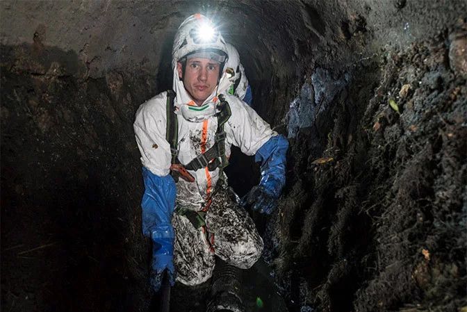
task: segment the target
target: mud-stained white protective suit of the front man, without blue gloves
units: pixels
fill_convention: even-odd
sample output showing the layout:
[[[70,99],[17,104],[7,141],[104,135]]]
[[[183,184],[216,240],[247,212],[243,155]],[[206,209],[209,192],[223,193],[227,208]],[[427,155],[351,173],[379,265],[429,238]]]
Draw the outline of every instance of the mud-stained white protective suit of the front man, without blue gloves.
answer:
[[[174,49],[176,46],[177,37]],[[195,103],[179,79],[175,65],[176,62],[172,62],[173,89],[177,93],[174,106],[179,126],[179,160],[186,165],[215,144],[218,120],[215,115],[204,116],[205,119],[199,122],[190,122],[183,117],[181,106]],[[224,76],[225,72],[221,79]],[[215,108],[215,104],[219,103],[216,92],[214,90],[204,104],[212,104]],[[225,99],[231,109],[231,117],[224,124],[227,156],[230,156],[231,145],[240,147],[247,155],[254,155],[272,136],[277,136],[269,124],[243,101],[231,95],[225,95]],[[158,176],[169,174],[171,165],[170,144],[165,139],[166,101],[167,92],[149,99],[138,108],[134,123],[142,165]],[[177,183],[176,207],[201,211],[206,203],[211,200],[212,203],[206,213],[206,227],[199,229],[195,229],[185,216],[174,213],[172,225],[176,233],[174,265],[178,272],[177,280],[186,285],[206,281],[214,268],[214,255],[239,268],[251,267],[261,256],[263,241],[245,210],[231,200],[229,190],[225,187],[215,188],[219,168],[210,172],[205,167],[190,171],[190,174],[195,177],[195,182],[179,179]]]

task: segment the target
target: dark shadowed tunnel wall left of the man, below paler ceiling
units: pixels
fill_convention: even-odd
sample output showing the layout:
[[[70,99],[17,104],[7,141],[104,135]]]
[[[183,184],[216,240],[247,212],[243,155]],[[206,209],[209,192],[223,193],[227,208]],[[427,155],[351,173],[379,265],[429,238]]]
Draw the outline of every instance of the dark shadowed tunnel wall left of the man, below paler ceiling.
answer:
[[[21,58],[1,77],[3,304],[129,311],[147,261],[132,122],[155,78],[73,76],[76,54],[36,48],[2,51]]]

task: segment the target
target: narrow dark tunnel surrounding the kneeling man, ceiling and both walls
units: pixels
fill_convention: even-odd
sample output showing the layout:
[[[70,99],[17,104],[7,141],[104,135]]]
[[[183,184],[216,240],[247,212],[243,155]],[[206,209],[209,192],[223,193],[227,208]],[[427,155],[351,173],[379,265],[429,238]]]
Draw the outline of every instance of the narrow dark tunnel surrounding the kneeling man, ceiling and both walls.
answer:
[[[132,125],[172,87],[174,33],[196,12],[220,22],[254,109],[290,142],[278,210],[259,220],[288,311],[466,311],[466,1],[0,10],[5,311],[149,311]],[[259,166],[237,150],[227,174],[244,195]]]

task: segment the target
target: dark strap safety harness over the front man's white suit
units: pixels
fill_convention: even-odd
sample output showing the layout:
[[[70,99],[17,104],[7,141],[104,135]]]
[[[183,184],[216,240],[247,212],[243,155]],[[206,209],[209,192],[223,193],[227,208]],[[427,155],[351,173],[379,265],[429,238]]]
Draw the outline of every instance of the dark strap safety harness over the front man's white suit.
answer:
[[[175,92],[173,90],[167,90],[167,131],[165,139],[170,144],[170,154],[172,154],[170,174],[176,182],[179,181],[179,178],[184,179],[185,181],[194,182],[195,178],[188,172],[188,170],[199,170],[204,167],[208,167],[209,171],[213,171],[216,168],[219,168],[218,184],[222,185],[222,183],[224,183],[224,168],[229,165],[229,159],[225,155],[226,133],[224,131],[224,124],[231,116],[229,103],[225,100],[223,95],[219,95],[220,104],[218,104],[218,108],[220,111],[216,115],[218,117],[218,129],[215,131],[214,145],[204,153],[193,158],[188,164],[182,165],[179,161],[179,125],[177,114],[174,111],[174,99]],[[202,211],[192,211],[187,208],[177,207],[176,212],[179,215],[187,217],[195,229],[199,229],[200,227],[205,226],[204,217],[210,202],[211,201],[208,202]]]

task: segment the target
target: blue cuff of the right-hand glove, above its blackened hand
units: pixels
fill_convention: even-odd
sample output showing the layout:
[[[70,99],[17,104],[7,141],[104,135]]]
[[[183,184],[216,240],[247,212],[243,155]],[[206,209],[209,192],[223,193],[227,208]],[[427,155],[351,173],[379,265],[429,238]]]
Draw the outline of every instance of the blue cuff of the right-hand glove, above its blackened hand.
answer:
[[[260,147],[254,161],[261,162],[260,186],[275,198],[279,198],[286,184],[286,156],[288,140],[284,136],[273,136]]]

